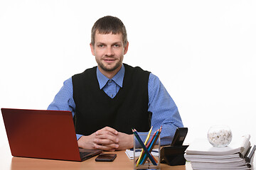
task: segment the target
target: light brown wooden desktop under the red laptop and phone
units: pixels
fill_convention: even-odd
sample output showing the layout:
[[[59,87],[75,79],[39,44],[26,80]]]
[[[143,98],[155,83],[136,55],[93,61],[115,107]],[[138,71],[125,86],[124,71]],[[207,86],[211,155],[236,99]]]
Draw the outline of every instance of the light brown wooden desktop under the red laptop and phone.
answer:
[[[61,170],[99,170],[99,169],[133,169],[133,160],[129,160],[124,151],[107,152],[117,154],[114,162],[95,162],[95,157],[87,159],[84,162],[58,161],[51,159],[33,159],[23,157],[12,157],[9,146],[0,148],[0,169],[1,170],[41,170],[41,169],[61,169]],[[161,164],[161,170],[192,170],[191,164],[186,163],[183,166],[169,166]]]

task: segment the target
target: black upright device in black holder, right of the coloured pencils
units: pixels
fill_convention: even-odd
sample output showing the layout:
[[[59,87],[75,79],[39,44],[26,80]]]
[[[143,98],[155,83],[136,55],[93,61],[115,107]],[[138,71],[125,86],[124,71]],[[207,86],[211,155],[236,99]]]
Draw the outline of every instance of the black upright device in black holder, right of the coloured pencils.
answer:
[[[174,139],[171,142],[171,145],[161,148],[161,163],[166,163],[171,166],[186,164],[184,153],[188,145],[183,145],[183,142],[185,140],[187,133],[188,128],[176,129]]]

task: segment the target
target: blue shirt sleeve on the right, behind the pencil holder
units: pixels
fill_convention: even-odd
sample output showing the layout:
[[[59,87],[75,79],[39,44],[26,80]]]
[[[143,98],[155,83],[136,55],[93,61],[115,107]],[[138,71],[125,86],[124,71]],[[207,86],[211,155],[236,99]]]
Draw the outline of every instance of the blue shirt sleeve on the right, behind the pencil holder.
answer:
[[[166,91],[163,84],[154,74],[149,74],[149,108],[152,113],[151,126],[152,132],[162,126],[161,145],[171,145],[176,128],[183,127],[181,116],[178,113],[178,108],[174,100]],[[144,132],[145,134],[146,132]],[[143,134],[141,132],[140,134]]]

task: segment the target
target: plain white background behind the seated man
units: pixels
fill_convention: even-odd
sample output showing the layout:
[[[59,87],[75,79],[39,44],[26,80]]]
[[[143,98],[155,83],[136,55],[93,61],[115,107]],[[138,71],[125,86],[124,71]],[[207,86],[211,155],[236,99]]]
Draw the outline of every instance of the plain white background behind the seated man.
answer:
[[[159,77],[188,127],[250,133],[255,143],[256,1],[0,0],[0,108],[46,109],[63,81],[96,65],[90,29],[106,15],[127,28],[124,63]],[[8,140],[0,118],[0,146]]]

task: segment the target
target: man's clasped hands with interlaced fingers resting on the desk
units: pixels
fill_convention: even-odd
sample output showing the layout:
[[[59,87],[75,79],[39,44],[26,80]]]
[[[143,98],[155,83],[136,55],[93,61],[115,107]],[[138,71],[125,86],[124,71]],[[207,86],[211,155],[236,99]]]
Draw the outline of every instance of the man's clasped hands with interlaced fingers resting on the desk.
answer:
[[[85,149],[101,149],[115,151],[133,147],[133,135],[118,132],[110,127],[105,127],[78,140],[78,147]]]

